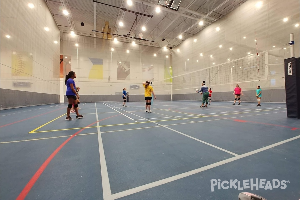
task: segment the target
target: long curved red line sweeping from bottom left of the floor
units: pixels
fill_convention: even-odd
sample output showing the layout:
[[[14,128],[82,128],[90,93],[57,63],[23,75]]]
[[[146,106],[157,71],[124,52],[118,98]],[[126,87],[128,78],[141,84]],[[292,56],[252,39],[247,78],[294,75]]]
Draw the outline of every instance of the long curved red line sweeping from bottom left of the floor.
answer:
[[[119,114],[120,115],[120,114]],[[112,118],[112,117],[116,117],[118,115],[114,115],[111,117],[107,117],[104,119],[99,120],[103,121],[106,120],[108,118]],[[93,124],[96,124],[98,121],[86,126],[86,127],[90,127]],[[46,167],[48,166],[48,164],[50,163],[50,161],[55,157],[55,155],[61,150],[61,148],[64,147],[64,145],[66,145],[73,137],[75,137],[78,133],[80,133],[83,129],[77,131],[76,133],[74,133],[72,136],[70,136],[66,141],[64,141],[57,149],[55,149],[55,151],[47,158],[47,160],[41,165],[41,167],[38,169],[37,172],[35,172],[35,175],[33,175],[33,177],[30,179],[30,181],[26,184],[26,186],[24,187],[24,189],[22,190],[22,192],[19,194],[19,196],[16,198],[16,200],[23,200],[25,199],[25,197],[27,196],[27,194],[29,193],[29,191],[31,190],[31,188],[33,187],[33,185],[35,184],[35,182],[38,180],[38,178],[41,176],[41,174],[44,172],[44,170],[46,169]]]

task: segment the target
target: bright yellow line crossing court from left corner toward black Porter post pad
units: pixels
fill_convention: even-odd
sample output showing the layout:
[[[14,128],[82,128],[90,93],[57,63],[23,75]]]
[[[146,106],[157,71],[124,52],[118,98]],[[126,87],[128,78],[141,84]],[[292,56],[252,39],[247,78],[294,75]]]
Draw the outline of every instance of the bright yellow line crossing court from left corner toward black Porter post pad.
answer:
[[[259,111],[253,111],[253,112],[264,112],[264,111],[283,110],[283,109],[285,109],[285,108],[272,109],[272,110],[259,110]],[[229,113],[229,114],[221,114],[221,115],[208,115],[208,116],[178,118],[178,119],[166,119],[166,120],[157,120],[157,121],[143,121],[143,122],[135,122],[135,123],[127,123],[127,124],[111,124],[111,125],[102,125],[102,126],[99,126],[99,127],[121,126],[121,125],[130,125],[130,124],[143,124],[143,123],[160,122],[160,121],[174,121],[174,120],[194,119],[194,118],[202,118],[202,117],[217,117],[217,116],[223,116],[223,115],[236,115],[236,114],[244,114],[244,113],[252,113],[252,112],[239,112],[239,113]],[[199,121],[199,122],[201,122],[201,121]],[[52,131],[76,130],[76,129],[86,129],[86,128],[97,128],[97,127],[98,126],[70,128],[70,129],[58,129],[58,130],[45,130],[45,131],[36,131],[36,132],[31,132],[31,133],[44,133],[44,132],[52,132]]]

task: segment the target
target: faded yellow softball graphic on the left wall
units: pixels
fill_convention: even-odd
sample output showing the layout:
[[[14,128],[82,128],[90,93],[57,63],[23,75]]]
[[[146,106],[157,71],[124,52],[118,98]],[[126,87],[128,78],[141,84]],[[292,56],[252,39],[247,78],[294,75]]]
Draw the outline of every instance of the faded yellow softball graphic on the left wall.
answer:
[[[11,58],[12,76],[32,76],[32,53],[13,52]]]

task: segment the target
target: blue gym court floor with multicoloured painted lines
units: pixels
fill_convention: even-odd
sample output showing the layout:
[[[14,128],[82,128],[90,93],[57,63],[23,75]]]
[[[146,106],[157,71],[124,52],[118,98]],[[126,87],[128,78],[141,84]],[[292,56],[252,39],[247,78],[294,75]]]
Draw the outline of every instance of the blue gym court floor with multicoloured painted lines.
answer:
[[[81,103],[0,111],[0,199],[300,199],[300,120],[284,103]]]

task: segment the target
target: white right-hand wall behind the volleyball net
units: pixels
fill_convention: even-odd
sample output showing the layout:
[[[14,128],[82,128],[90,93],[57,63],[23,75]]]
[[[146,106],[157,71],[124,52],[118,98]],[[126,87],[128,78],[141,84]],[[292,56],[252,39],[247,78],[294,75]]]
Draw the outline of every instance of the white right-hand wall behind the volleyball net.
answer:
[[[203,80],[209,82],[213,76],[209,85],[213,91],[232,91],[236,83],[244,90],[255,90],[256,85],[264,89],[285,87],[283,63],[290,57],[289,45],[286,45],[290,33],[294,33],[296,57],[300,54],[300,26],[295,27],[300,24],[300,2],[262,0],[262,6],[256,7],[257,2],[246,1],[193,37],[183,38],[185,41],[172,50],[174,76],[179,76],[173,79],[173,85],[180,89],[173,94],[193,93]],[[201,70],[208,67],[211,67],[210,72]],[[193,73],[196,70],[200,71]],[[181,76],[184,73],[190,74]]]

